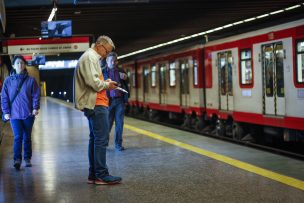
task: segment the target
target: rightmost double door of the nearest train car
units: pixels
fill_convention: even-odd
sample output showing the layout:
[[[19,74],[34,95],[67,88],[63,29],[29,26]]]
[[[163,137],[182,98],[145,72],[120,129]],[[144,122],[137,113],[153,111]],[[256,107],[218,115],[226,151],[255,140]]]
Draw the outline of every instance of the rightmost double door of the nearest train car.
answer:
[[[285,115],[283,43],[262,45],[263,112],[266,115]]]

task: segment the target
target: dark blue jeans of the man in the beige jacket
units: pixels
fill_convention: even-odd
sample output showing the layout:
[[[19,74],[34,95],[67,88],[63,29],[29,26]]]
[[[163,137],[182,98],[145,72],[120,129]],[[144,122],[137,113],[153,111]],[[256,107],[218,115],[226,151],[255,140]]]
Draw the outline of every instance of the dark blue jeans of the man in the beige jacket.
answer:
[[[107,107],[96,106],[94,113],[87,117],[90,129],[88,150],[90,178],[102,178],[109,175],[106,164],[106,149],[109,143],[108,114]]]

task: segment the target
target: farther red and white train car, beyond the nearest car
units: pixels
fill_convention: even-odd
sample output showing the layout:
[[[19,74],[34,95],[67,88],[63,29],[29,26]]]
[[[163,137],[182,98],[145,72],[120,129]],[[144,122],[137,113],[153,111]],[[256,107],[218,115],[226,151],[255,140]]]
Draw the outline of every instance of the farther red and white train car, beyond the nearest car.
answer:
[[[202,56],[202,47],[195,46],[136,61],[136,67],[131,69],[136,70],[136,78],[130,109],[150,119],[181,119],[185,126],[194,120],[197,127],[202,126]],[[128,69],[128,64],[123,64],[123,68]]]

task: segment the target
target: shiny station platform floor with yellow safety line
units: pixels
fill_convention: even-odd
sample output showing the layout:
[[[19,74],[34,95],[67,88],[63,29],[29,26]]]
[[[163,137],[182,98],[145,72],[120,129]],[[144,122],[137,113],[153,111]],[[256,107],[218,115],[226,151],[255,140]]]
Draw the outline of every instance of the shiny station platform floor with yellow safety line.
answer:
[[[13,168],[2,129],[0,202],[304,202],[304,162],[125,118],[125,151],[107,150],[118,185],[88,185],[88,124],[71,104],[43,98],[31,168]],[[24,163],[23,163],[24,164]]]

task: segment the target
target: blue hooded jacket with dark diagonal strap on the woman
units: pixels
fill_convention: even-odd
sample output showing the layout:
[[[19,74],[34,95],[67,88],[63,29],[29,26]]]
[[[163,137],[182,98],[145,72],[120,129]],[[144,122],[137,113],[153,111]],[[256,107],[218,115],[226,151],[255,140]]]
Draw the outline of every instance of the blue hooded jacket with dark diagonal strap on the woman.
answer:
[[[20,92],[10,106],[10,101],[24,78]],[[35,79],[27,72],[7,77],[2,86],[1,104],[3,114],[10,114],[11,119],[26,119],[32,116],[33,110],[40,108],[40,88]]]

